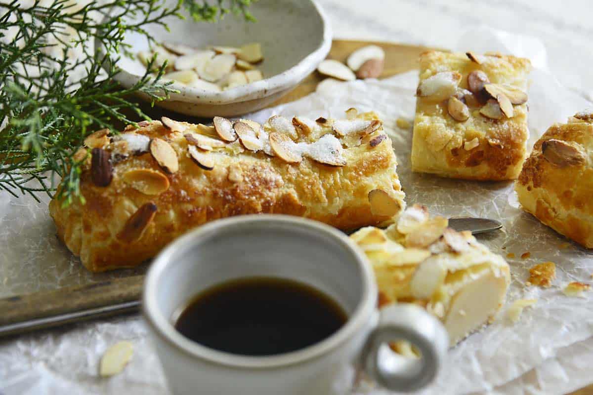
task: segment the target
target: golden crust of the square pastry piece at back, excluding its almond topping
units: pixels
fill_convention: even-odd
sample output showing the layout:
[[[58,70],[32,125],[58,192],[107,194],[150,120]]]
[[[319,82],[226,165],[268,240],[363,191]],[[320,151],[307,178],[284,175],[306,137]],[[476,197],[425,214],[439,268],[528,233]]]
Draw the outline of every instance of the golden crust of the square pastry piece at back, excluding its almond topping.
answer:
[[[425,52],[420,56],[420,82],[439,72],[457,72],[458,91],[463,92],[469,88],[468,75],[482,70],[493,84],[527,90],[528,59],[492,54],[480,60],[472,62],[464,53]],[[458,121],[448,113],[447,99],[417,97],[412,170],[461,179],[517,178],[527,156],[527,104],[514,105],[513,117],[499,120],[480,114],[480,103],[467,105],[468,119]]]

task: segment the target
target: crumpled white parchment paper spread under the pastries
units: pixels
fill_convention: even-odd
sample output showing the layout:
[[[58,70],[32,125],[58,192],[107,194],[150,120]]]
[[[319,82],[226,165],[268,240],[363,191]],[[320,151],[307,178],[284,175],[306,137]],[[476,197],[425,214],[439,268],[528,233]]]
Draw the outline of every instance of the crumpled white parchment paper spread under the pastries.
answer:
[[[531,73],[529,91],[530,146],[551,123],[566,121],[569,115],[591,105],[547,73],[545,53],[530,41],[533,39],[483,30],[481,37],[486,35],[487,39],[476,46],[474,33],[461,38],[460,48],[527,54],[534,60],[537,69]],[[569,243],[523,213],[512,182],[458,181],[412,174],[412,130],[399,129],[396,120],[404,118],[412,124],[416,85],[417,72],[383,81],[342,83],[299,101],[259,111],[253,118],[264,121],[272,114],[343,117],[343,111],[349,107],[377,111],[393,140],[408,204],[428,205],[433,214],[502,221],[502,232],[484,235],[479,240],[503,256],[515,254],[515,258],[508,259],[512,284],[507,303],[492,325],[449,351],[438,379],[423,393],[563,393],[591,383],[593,376],[586,367],[593,364],[593,292],[569,298],[562,294],[562,288],[570,281],[591,282],[593,253]],[[9,294],[13,275],[2,268],[8,266],[7,259],[19,259],[21,270],[40,272],[41,278],[52,281],[59,281],[60,275],[78,276],[82,282],[94,279],[56,242],[46,201],[38,204],[28,197],[17,200],[2,195],[0,243],[0,279],[4,281],[5,293]],[[524,252],[530,252],[530,258],[521,259]],[[528,268],[544,261],[556,263],[553,286],[545,290],[525,287]],[[14,270],[15,266],[11,264],[11,268]],[[56,268],[66,268],[66,272],[60,274]],[[520,298],[534,298],[537,303],[525,309],[519,322],[512,324],[506,319],[505,309]],[[2,341],[0,394],[167,393],[158,359],[146,340],[146,330],[141,317],[131,316]],[[99,378],[101,355],[120,340],[135,344],[132,362],[116,377]],[[365,382],[354,391],[385,393]]]

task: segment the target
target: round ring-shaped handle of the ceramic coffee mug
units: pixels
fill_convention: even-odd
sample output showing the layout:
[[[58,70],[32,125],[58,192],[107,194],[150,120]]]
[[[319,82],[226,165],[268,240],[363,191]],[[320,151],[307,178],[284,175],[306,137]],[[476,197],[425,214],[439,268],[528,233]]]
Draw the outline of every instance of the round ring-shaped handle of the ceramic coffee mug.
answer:
[[[388,342],[408,341],[420,358],[398,355]],[[436,377],[447,354],[449,335],[442,323],[414,304],[393,304],[380,310],[378,326],[362,348],[362,366],[375,383],[392,391],[414,391]]]

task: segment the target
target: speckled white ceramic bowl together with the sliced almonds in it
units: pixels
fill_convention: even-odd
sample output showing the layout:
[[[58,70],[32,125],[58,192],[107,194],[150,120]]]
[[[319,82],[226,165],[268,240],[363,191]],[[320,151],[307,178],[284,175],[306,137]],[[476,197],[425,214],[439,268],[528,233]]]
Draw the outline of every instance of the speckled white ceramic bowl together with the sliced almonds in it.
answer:
[[[158,25],[148,29],[158,46],[149,46],[140,34],[127,34],[133,56],[122,56],[117,63],[122,70],[117,81],[126,87],[135,84],[156,54],[157,64],[167,59],[164,78],[173,80],[179,91],[157,102],[161,107],[186,115],[231,117],[272,104],[326,57],[331,31],[312,0],[259,0],[250,12],[256,22],[236,15],[225,15],[218,23],[171,17],[170,31]]]

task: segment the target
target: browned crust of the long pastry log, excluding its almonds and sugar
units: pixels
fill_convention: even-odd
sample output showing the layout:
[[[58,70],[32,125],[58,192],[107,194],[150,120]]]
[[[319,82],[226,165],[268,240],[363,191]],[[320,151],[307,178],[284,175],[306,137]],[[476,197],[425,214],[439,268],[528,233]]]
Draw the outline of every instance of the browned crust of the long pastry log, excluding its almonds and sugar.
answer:
[[[378,117],[374,113],[365,113],[358,115],[358,119],[376,120]],[[293,131],[296,136],[292,139],[314,142],[325,134],[339,137],[332,129],[333,121],[323,121],[320,118],[313,131],[296,127]],[[288,124],[290,122],[288,118]],[[224,148],[203,152],[214,164],[211,170],[206,170],[190,158],[184,133],[165,128],[161,121],[141,124],[140,129],[134,130],[130,126],[124,133],[138,133],[153,140],[158,137],[168,142],[178,158],[178,171],[173,174],[164,171],[151,152],[130,154],[123,159],[111,152],[113,178],[107,187],[95,185],[87,163],[83,166],[80,183],[85,204],[76,201],[64,206],[56,200],[50,202],[49,210],[58,236],[74,255],[80,256],[82,264],[90,271],[138,265],[187,230],[223,217],[290,214],[353,230],[387,224],[393,217],[385,215],[385,210],[379,210],[378,214],[373,210],[369,201],[372,190],[385,192],[388,203],[392,203],[390,210],[393,214],[405,207],[404,193],[396,174],[396,156],[382,126],[363,137],[358,145],[343,149],[343,166],[330,166],[310,158],[304,158],[300,163],[287,163],[262,150],[246,150],[235,140]],[[286,127],[285,122],[280,124]],[[215,136],[212,127],[183,125],[194,133],[201,133],[201,130]],[[265,129],[267,133],[273,131],[268,123]],[[371,146],[369,141],[377,136],[384,137],[380,137],[380,143]],[[340,142],[342,140],[340,137]],[[107,152],[113,145],[112,139],[105,147]],[[150,192],[154,193],[156,189],[157,194],[139,191],[146,190],[142,188],[146,184],[124,181],[126,174],[136,169],[157,172],[156,175],[151,173],[157,179],[165,176],[168,187],[159,184],[165,189],[162,192],[152,188]],[[141,207],[144,207],[144,217],[151,217],[156,208],[154,217],[146,226],[138,218]],[[139,237],[133,232],[130,237],[125,234],[125,229],[134,230],[138,226],[144,227],[136,232]]]

